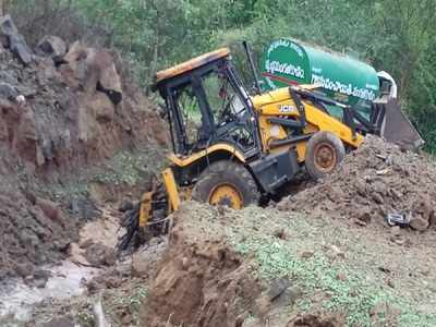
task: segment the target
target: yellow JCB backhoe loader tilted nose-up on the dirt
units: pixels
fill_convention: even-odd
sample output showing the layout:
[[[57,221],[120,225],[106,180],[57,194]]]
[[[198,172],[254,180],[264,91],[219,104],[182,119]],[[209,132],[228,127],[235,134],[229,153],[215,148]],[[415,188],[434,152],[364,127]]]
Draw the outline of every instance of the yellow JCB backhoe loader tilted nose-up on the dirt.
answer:
[[[162,232],[182,201],[240,209],[276,194],[301,170],[323,178],[366,133],[380,134],[386,121],[383,106],[374,106],[364,121],[311,85],[251,96],[227,48],[158,72],[153,88],[166,102],[171,166],[162,172],[164,184],[126,213],[120,250],[144,232]],[[343,120],[326,106],[341,108]]]

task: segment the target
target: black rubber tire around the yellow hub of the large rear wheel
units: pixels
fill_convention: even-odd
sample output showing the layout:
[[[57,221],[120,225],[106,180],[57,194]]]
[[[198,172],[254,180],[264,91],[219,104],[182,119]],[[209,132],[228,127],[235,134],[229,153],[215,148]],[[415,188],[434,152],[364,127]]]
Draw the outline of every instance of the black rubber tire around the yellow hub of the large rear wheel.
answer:
[[[209,197],[217,186],[230,184],[238,190],[242,197],[242,207],[258,204],[261,193],[250,171],[241,164],[230,160],[220,160],[206,168],[192,192],[192,198],[209,203]]]

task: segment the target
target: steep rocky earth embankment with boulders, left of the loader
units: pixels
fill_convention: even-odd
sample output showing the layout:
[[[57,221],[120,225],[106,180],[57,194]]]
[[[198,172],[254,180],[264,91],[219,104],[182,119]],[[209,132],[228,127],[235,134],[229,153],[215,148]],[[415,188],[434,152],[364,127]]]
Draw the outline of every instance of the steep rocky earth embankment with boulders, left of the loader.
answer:
[[[166,144],[154,107],[123,72],[117,53],[80,41],[47,36],[33,52],[11,17],[0,19],[0,278],[65,254],[80,221],[63,209],[84,207],[70,179],[83,183],[120,150]],[[68,203],[51,202],[61,201],[52,189]]]

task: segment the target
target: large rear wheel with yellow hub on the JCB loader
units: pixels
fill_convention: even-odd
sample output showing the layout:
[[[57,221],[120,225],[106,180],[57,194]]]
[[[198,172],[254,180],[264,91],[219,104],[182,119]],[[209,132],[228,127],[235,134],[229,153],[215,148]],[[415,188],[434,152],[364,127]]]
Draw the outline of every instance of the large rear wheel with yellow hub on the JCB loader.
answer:
[[[241,209],[258,204],[261,194],[251,173],[233,161],[217,161],[205,169],[192,192],[192,198],[210,205]]]

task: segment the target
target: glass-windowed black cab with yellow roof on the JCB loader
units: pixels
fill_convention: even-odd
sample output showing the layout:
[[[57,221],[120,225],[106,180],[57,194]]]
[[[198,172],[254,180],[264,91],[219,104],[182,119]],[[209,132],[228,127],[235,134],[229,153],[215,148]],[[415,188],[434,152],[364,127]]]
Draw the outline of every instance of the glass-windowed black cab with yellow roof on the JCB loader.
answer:
[[[190,156],[217,143],[244,157],[259,153],[253,105],[228,49],[157,73],[154,88],[166,101],[174,154]]]

